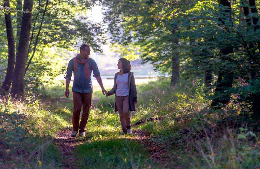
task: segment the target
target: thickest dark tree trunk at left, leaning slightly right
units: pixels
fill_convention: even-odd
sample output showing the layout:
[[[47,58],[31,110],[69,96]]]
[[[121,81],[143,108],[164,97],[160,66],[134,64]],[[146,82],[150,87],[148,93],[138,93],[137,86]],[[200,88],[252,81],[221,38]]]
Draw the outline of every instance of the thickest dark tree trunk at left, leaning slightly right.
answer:
[[[11,88],[13,97],[23,96],[24,94],[24,70],[30,40],[32,8],[33,0],[24,0],[23,10],[27,9],[29,12],[23,12],[22,15],[21,34],[18,44],[18,53],[16,55],[13,85]]]

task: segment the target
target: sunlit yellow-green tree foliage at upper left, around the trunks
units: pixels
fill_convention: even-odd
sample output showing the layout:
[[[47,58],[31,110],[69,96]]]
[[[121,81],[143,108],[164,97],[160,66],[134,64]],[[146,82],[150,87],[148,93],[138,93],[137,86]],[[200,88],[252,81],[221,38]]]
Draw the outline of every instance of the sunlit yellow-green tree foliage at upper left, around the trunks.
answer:
[[[48,2],[48,4],[47,4]],[[95,52],[102,52],[101,44],[106,42],[104,30],[101,24],[93,23],[86,16],[95,1],[59,1],[59,0],[39,0],[34,1],[32,11],[32,28],[30,34],[30,43],[28,49],[28,71],[25,74],[25,86],[34,90],[42,87],[47,82],[53,83],[57,75],[64,74],[64,59],[57,62],[57,55],[64,57],[66,50],[78,50],[75,45],[80,43],[88,43]],[[22,12],[12,10],[16,8],[16,1],[10,2],[11,17],[14,29],[14,35],[18,32],[17,16],[21,16]],[[46,11],[45,11],[46,7]],[[6,8],[1,8],[6,10]],[[45,15],[44,15],[45,14]],[[0,26],[0,67],[1,79],[5,77],[7,69],[8,45],[5,28],[5,18],[1,15]],[[16,42],[18,37],[15,36]],[[18,46],[18,44],[16,44]],[[52,53],[50,50],[56,50]],[[50,56],[51,54],[54,54]],[[67,54],[67,53],[65,53]],[[56,56],[55,56],[56,55]],[[70,56],[71,57],[71,56]],[[60,65],[63,64],[64,67]]]

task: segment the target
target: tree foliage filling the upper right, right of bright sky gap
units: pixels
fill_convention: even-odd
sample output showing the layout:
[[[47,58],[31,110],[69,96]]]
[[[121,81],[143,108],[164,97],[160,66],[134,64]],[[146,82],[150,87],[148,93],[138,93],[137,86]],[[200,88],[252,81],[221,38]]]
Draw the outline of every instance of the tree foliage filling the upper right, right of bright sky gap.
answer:
[[[112,42],[121,53],[134,56],[140,52],[143,62],[150,61],[156,71],[168,73],[175,71],[172,59],[177,57],[183,79],[203,78],[210,71],[213,77],[220,76],[218,83],[225,84],[221,79],[230,73],[233,88],[223,87],[208,98],[221,100],[238,95],[236,101],[248,103],[245,109],[251,111],[250,105],[256,100],[253,97],[260,90],[260,22],[253,24],[253,20],[259,20],[259,1],[255,7],[258,13],[252,13],[247,1],[231,1],[231,8],[212,0],[101,2]],[[224,49],[233,52],[223,54]],[[247,84],[241,86],[240,81]],[[209,89],[214,91],[216,79],[212,84]]]

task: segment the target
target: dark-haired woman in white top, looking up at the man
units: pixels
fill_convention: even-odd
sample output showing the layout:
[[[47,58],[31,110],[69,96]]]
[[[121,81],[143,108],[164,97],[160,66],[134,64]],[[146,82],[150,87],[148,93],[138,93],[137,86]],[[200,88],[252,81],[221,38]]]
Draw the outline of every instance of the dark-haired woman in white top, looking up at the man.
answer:
[[[113,88],[106,92],[106,96],[115,94],[115,111],[119,111],[120,122],[122,126],[122,135],[132,133],[130,112],[135,111],[137,103],[137,91],[135,86],[134,73],[130,72],[130,62],[125,58],[118,61],[120,72],[115,74],[115,83]]]

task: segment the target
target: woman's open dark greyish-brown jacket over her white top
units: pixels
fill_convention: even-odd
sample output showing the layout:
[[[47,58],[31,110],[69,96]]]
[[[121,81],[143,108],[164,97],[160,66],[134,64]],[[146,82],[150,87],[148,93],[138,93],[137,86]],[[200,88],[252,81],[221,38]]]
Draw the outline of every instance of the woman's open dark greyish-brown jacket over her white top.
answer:
[[[114,86],[113,88],[108,91],[108,96],[115,94],[117,85],[116,85],[116,78],[119,72],[115,74],[114,78]],[[133,72],[128,73],[128,88],[129,88],[129,111],[135,111],[135,102],[137,102],[137,91],[136,91],[136,86],[135,86],[135,77]],[[115,104],[115,111],[117,110],[116,104]]]

